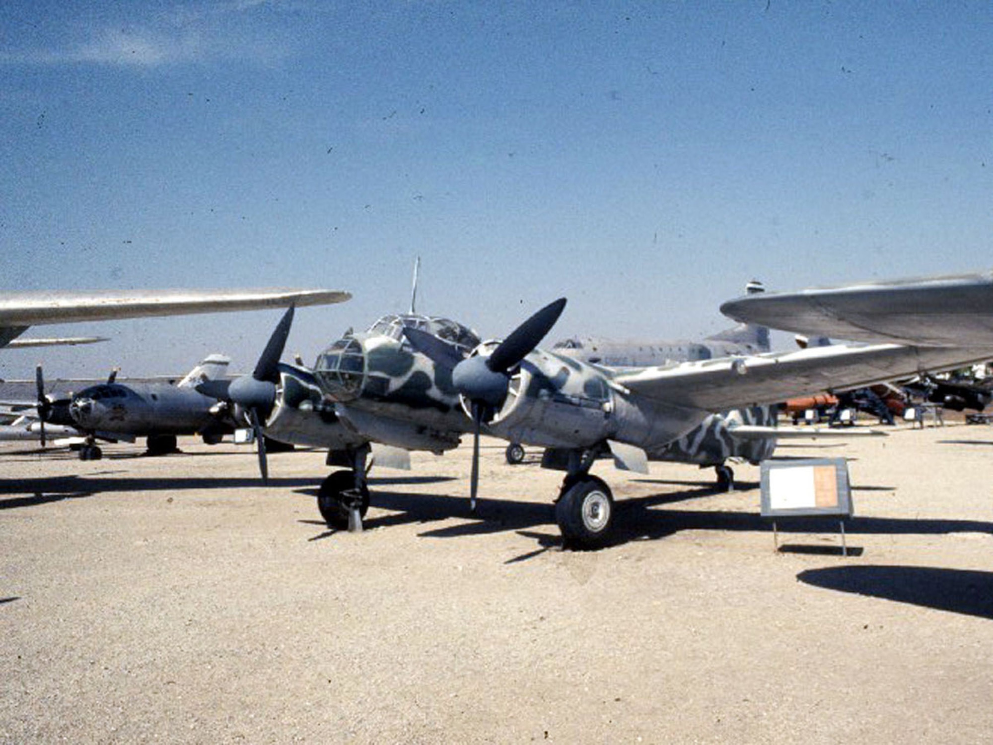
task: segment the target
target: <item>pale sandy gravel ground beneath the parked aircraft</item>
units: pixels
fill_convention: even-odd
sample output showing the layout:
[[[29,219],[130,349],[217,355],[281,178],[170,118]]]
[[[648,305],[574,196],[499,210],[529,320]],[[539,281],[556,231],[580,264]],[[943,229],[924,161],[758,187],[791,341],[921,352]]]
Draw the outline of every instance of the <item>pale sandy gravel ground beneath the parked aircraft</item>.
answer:
[[[486,440],[373,470],[330,532],[322,452],[99,461],[0,445],[2,742],[968,742],[993,732],[993,428],[802,440],[857,517],[759,517],[759,469],[598,464],[617,540],[561,549],[561,474]]]

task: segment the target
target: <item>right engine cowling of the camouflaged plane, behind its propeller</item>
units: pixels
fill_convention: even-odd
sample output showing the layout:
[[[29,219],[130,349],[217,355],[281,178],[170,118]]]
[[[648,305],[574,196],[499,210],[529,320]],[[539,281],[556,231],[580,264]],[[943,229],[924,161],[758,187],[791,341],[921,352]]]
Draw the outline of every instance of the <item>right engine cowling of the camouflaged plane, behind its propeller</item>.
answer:
[[[473,354],[487,354],[484,344]],[[589,447],[612,435],[612,392],[573,360],[535,350],[510,374],[506,396],[489,419],[493,435],[540,447]],[[462,398],[472,416],[472,406]]]

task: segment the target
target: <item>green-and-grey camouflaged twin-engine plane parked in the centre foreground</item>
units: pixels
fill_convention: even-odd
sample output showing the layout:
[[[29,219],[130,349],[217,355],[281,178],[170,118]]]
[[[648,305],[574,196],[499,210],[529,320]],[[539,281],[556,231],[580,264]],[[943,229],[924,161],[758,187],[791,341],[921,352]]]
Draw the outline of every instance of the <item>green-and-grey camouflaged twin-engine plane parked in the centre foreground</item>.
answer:
[[[542,465],[566,473],[556,500],[563,537],[594,548],[608,540],[614,514],[610,488],[590,473],[600,457],[643,471],[713,414],[970,364],[993,348],[839,344],[614,370],[537,348],[564,308],[562,299],[539,310],[501,342],[481,342],[444,318],[386,316],[333,343],[313,369],[279,362],[290,310],[251,376],[201,390],[226,396],[259,435],[329,448],[329,465],[348,469],[321,486],[329,525],[355,524],[367,508],[370,454],[397,465],[397,448],[440,453],[468,432],[475,504],[479,435],[487,432],[546,448]],[[768,442],[765,424],[732,426],[735,435]],[[259,457],[264,475],[261,448]]]

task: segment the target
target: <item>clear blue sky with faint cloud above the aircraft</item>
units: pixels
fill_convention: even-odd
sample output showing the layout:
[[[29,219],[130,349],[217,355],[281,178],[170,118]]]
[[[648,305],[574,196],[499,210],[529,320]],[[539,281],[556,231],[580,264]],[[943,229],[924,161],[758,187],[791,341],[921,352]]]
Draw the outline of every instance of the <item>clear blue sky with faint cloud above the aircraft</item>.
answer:
[[[986,3],[0,5],[7,289],[305,286],[695,337],[771,289],[989,268]],[[278,312],[36,327],[0,377],[251,366]]]

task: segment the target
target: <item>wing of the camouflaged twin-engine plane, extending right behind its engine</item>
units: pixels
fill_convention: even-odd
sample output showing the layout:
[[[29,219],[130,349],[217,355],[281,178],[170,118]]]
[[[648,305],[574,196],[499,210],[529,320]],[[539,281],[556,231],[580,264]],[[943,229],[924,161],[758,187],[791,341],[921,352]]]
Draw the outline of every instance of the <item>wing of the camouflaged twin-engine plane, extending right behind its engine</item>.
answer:
[[[898,344],[813,347],[649,367],[614,376],[614,385],[672,406],[723,412],[777,404],[821,391],[862,388],[993,358],[993,349]]]

